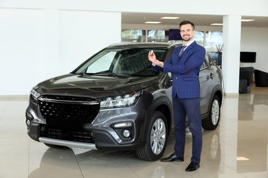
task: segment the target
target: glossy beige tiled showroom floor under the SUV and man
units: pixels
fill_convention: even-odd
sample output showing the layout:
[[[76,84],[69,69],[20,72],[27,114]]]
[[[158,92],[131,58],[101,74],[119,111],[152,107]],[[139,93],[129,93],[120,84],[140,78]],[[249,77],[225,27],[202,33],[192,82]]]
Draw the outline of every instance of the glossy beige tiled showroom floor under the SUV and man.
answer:
[[[265,88],[268,90],[268,88]],[[51,149],[26,133],[26,99],[0,101],[0,177],[268,177],[268,94],[225,97],[221,124],[203,131],[201,167],[187,173],[191,136],[184,162],[146,162],[130,151]],[[166,155],[172,153],[174,135]]]

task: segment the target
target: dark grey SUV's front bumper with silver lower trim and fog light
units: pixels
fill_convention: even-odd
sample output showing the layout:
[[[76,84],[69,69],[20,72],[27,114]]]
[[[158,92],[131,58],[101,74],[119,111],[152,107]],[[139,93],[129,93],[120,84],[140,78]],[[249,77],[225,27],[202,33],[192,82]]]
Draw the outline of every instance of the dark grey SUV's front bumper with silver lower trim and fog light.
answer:
[[[30,106],[26,110],[26,119],[30,120],[31,123],[27,133],[30,138],[38,142],[98,150],[133,150],[143,147],[145,144],[141,134],[143,131],[140,131],[140,129],[144,125],[146,107],[139,105],[139,102],[131,107],[100,110],[92,123],[82,124],[83,133],[72,130],[63,132],[59,128],[49,128],[38,110],[33,110],[33,107]],[[126,122],[132,123],[131,127],[113,127],[115,123]],[[131,131],[129,138],[122,135],[124,129]],[[67,138],[70,134],[76,135],[75,140],[73,139],[74,136],[71,136],[71,139]],[[84,141],[85,137],[87,137],[86,141]]]

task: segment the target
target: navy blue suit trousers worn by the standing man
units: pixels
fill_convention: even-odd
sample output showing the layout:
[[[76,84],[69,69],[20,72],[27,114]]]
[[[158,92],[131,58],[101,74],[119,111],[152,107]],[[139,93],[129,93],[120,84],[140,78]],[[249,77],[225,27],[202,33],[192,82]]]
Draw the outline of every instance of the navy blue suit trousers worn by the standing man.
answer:
[[[175,124],[175,155],[184,157],[186,144],[186,116],[189,129],[192,133],[192,157],[191,161],[200,163],[202,150],[202,125],[200,99],[172,98]]]

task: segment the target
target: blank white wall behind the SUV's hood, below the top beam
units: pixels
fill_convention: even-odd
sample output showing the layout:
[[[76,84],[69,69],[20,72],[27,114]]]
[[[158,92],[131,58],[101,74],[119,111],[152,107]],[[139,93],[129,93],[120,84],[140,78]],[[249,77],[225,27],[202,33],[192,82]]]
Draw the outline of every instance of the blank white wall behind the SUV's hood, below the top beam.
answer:
[[[0,8],[0,95],[28,94],[121,40],[120,12]]]

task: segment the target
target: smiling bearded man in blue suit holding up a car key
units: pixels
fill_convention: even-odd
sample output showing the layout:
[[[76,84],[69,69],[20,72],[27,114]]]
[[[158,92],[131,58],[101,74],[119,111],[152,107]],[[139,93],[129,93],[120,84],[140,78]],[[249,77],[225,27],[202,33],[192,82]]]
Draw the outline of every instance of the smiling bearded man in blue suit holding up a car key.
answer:
[[[157,60],[155,53],[148,53],[153,66],[164,72],[173,73],[172,102],[175,124],[174,153],[161,162],[183,162],[186,142],[186,116],[192,133],[192,157],[186,171],[199,168],[202,149],[202,126],[200,108],[199,71],[205,60],[205,49],[195,40],[194,24],[183,21],[179,24],[183,46],[177,47],[164,63]]]

